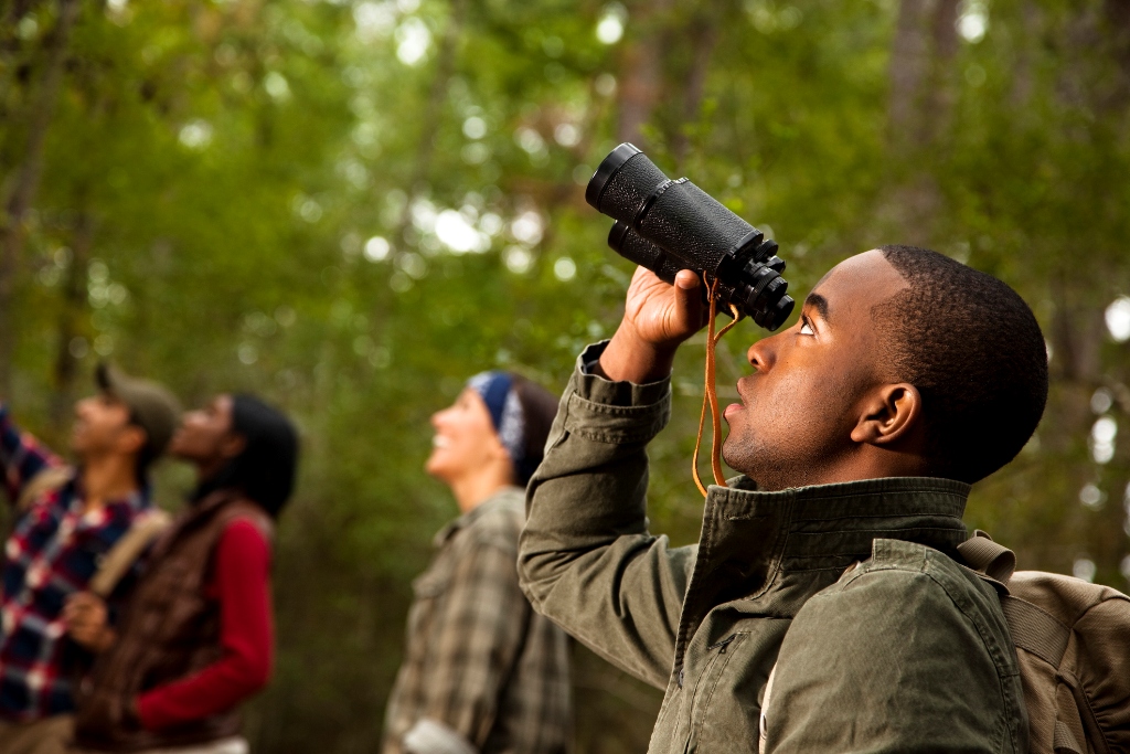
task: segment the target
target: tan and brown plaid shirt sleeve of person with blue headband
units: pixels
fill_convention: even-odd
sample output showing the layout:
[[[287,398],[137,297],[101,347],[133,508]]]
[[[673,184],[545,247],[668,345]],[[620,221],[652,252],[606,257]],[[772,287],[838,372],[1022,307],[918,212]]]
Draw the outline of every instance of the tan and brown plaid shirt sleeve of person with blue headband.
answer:
[[[428,645],[428,676],[443,682],[423,687],[421,719],[429,721],[429,735],[421,735],[417,721],[403,742],[414,754],[459,751],[459,739],[481,749],[525,638],[531,612],[518,588],[513,538],[505,543],[488,532],[468,545],[460,548],[442,613],[434,617],[441,631]],[[438,742],[440,730],[447,731],[450,746],[423,744]]]

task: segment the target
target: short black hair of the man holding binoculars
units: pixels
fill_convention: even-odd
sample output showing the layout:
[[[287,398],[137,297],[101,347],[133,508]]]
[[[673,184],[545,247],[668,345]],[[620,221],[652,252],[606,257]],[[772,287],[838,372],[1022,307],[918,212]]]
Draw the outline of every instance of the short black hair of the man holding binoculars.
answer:
[[[1040,324],[991,275],[929,249],[879,251],[909,284],[871,310],[880,357],[922,396],[930,474],[972,484],[1012,460],[1040,424]]]

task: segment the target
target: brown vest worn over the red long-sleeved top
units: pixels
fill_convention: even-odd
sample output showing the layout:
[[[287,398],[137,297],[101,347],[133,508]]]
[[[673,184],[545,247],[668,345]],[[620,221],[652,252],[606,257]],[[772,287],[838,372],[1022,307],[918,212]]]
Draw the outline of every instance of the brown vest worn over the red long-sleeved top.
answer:
[[[237,492],[212,493],[177,518],[147,561],[118,625],[118,642],[82,682],[77,704],[80,747],[133,752],[186,746],[234,736],[236,710],[159,731],[141,728],[137,695],[192,675],[218,660],[219,604],[205,595],[212,554],[233,520],[250,519],[270,538],[271,521]]]

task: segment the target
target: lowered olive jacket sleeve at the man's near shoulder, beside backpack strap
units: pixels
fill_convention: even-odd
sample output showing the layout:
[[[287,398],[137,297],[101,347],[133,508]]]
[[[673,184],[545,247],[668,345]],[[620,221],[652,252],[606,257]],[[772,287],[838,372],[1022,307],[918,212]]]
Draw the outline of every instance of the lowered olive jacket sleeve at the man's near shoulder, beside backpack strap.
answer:
[[[1008,699],[1019,685],[998,671],[982,635],[992,629],[971,600],[928,572],[859,571],[812,597],[789,629],[764,751],[1019,751]]]

